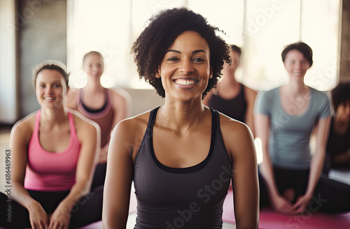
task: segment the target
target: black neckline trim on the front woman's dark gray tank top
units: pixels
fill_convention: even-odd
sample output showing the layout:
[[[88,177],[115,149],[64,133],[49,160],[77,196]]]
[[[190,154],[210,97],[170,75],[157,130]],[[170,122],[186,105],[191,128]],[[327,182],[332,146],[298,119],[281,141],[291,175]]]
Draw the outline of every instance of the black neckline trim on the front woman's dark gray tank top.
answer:
[[[160,163],[160,161],[158,161],[158,158],[155,156],[155,152],[153,149],[153,126],[154,126],[155,117],[157,115],[159,108],[160,107],[152,110],[152,112],[150,114],[150,120],[148,121],[148,124],[150,125],[149,130],[148,130],[149,131],[148,134],[149,134],[150,138],[148,138],[148,141],[149,141],[150,148],[151,148],[151,155],[152,155],[152,158],[153,158],[153,161],[155,162],[155,164],[161,170],[164,170],[166,172],[172,172],[172,173],[197,172],[198,170],[201,170],[202,168],[204,168],[209,163],[211,156],[213,155],[213,152],[214,152],[214,147],[215,147],[215,143],[216,143],[216,135],[217,135],[218,125],[219,125],[218,118],[217,118],[218,113],[215,112],[213,109],[209,108],[211,110],[211,140],[210,140],[209,153],[208,153],[207,157],[202,162],[198,163],[197,165],[193,165],[193,166],[186,167],[186,168],[173,168],[173,167],[169,167],[167,165],[163,165],[162,163]]]

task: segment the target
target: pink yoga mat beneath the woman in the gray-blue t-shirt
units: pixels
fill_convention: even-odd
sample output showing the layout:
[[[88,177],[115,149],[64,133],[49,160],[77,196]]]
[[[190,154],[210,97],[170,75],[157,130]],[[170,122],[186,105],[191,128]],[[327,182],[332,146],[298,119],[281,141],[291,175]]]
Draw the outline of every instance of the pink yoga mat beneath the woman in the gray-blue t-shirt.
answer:
[[[223,221],[235,223],[232,190],[223,204]],[[259,228],[269,229],[350,229],[350,212],[347,214],[324,214],[307,212],[302,216],[276,214],[271,208],[260,210]]]

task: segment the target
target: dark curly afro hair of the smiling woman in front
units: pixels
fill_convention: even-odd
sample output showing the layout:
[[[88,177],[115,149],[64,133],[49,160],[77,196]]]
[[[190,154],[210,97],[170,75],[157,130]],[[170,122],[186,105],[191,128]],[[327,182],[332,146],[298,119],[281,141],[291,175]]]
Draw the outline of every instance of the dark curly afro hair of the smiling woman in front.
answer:
[[[218,78],[221,77],[224,61],[230,63],[231,60],[228,45],[221,37],[216,36],[216,31],[221,30],[212,27],[206,18],[187,8],[162,10],[153,15],[148,22],[148,26],[132,46],[140,79],[144,77],[146,82],[151,84],[157,93],[164,98],[165,90],[162,82],[160,78],[155,77],[158,73],[158,67],[165,57],[167,49],[180,34],[184,31],[195,31],[209,45],[209,61],[213,69],[213,77],[209,79],[207,89],[202,95],[204,98],[207,92],[216,86]]]

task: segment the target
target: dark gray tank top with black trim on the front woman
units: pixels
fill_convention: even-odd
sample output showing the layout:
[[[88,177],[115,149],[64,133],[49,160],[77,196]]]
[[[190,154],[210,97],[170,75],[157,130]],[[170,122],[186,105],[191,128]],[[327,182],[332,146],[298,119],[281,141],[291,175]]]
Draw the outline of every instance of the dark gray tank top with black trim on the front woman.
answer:
[[[223,202],[230,186],[232,162],[223,144],[218,112],[211,109],[207,158],[189,168],[170,168],[160,163],[153,152],[153,125],[158,109],[151,111],[134,161],[135,229],[222,228]]]

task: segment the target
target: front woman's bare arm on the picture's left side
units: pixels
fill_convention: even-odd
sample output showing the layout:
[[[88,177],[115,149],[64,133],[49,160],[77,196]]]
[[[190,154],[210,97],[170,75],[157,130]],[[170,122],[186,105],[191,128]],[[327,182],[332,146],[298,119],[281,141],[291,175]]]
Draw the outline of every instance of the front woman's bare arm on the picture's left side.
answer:
[[[130,119],[120,121],[113,130],[104,184],[104,228],[126,227],[133,172],[132,151],[135,147],[133,130]]]

